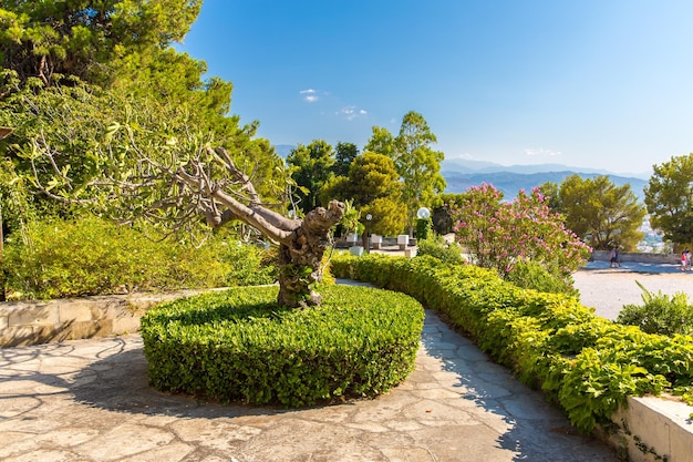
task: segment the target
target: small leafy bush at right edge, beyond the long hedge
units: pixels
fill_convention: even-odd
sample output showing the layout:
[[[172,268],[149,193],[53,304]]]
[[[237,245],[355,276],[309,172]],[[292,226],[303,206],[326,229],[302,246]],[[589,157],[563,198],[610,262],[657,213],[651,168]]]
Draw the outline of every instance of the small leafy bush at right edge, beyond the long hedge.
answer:
[[[642,284],[635,283],[642,289],[643,305],[624,305],[617,322],[670,337],[693,333],[693,305],[685,292],[676,292],[670,298],[662,291],[652,294]]]

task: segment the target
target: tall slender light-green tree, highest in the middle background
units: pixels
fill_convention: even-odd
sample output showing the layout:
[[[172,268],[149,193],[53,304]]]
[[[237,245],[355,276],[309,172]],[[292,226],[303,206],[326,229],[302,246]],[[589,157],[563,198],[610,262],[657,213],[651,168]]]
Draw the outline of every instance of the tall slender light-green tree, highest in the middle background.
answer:
[[[393,137],[385,129],[373,127],[366,148],[390,156],[403,179],[402,198],[407,206],[407,226],[413,226],[416,211],[430,207],[436,194],[445,189],[441,162],[445,157],[431,146],[436,137],[426,120],[414,111],[402,119],[400,133]]]

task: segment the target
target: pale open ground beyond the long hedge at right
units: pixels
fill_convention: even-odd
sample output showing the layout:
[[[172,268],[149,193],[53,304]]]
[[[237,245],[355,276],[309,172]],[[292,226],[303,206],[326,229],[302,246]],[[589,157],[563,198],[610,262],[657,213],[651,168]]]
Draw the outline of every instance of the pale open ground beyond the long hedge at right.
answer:
[[[642,305],[639,281],[651,292],[685,292],[693,302],[693,271],[633,273],[614,269],[582,269],[573,274],[582,305],[596,308],[598,316],[616,319],[623,305]]]

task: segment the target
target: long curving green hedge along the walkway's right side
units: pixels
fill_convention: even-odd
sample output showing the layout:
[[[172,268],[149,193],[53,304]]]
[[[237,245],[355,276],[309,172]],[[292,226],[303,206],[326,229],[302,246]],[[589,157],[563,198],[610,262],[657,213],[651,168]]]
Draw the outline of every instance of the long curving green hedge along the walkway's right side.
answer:
[[[582,432],[611,423],[628,396],[691,397],[693,337],[648,335],[594,316],[575,297],[520,289],[487,269],[433,257],[338,255],[331,270],[442,312],[494,360],[540,387]]]

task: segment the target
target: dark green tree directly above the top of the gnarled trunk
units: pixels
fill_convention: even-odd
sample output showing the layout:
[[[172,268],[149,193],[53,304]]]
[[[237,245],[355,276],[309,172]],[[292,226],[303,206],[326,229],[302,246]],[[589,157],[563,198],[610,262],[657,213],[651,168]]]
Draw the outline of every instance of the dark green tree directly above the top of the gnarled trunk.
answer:
[[[334,176],[331,171],[334,165],[332,146],[323,140],[314,140],[309,145],[299,144],[287,156],[287,163],[298,186],[296,197],[299,208],[303,213],[316,208],[320,189]]]

